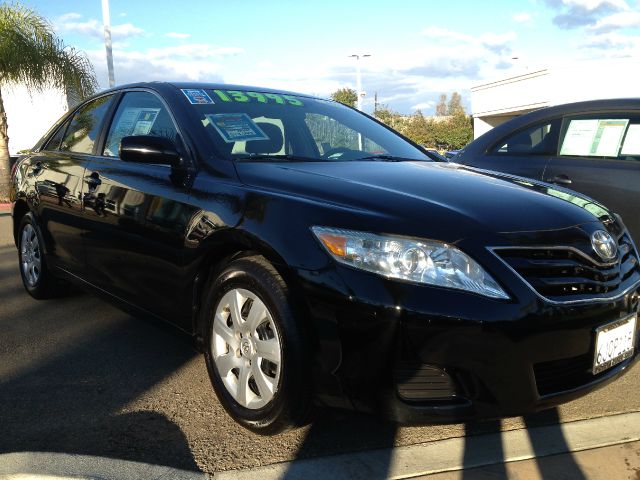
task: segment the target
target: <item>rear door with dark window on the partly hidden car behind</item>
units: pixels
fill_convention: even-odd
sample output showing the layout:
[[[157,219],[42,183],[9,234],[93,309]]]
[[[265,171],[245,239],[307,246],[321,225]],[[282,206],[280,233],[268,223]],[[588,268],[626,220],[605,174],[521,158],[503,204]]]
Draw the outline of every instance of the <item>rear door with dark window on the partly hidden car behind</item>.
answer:
[[[548,119],[510,133],[478,155],[465,155],[474,167],[542,180],[555,152],[560,119]]]

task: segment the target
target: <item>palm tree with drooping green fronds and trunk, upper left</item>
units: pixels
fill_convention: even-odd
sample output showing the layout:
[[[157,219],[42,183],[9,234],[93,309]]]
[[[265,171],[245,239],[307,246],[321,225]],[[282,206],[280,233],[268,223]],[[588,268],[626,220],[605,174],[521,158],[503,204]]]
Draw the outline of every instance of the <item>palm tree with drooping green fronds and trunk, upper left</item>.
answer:
[[[91,62],[66,47],[45,18],[19,4],[0,5],[0,203],[9,198],[9,137],[1,90],[8,84],[30,91],[59,88],[73,101],[97,88]]]

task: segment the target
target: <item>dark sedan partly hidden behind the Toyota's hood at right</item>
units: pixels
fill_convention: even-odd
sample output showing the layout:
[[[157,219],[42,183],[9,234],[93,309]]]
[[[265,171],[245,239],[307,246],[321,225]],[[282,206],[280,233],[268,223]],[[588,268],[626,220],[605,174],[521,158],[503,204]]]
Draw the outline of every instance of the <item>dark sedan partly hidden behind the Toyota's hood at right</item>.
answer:
[[[619,213],[640,238],[640,98],[516,117],[471,142],[455,161],[576,190]]]

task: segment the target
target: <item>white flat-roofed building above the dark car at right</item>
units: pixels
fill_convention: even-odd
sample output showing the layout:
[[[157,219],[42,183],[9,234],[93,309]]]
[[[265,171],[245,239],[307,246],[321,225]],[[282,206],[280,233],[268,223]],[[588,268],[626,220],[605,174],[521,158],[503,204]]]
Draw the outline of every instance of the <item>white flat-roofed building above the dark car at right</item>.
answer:
[[[640,58],[567,62],[471,87],[473,134],[542,107],[640,97]]]

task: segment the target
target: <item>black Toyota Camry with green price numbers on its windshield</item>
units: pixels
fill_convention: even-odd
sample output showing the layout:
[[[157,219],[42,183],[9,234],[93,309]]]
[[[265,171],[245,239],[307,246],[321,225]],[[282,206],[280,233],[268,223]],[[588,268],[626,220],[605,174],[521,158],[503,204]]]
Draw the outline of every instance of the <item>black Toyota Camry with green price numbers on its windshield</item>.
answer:
[[[638,252],[619,216],[429,161],[335,102],[123,86],[70,111],[12,181],[26,290],[73,282],[185,330],[255,431],[299,425],[313,403],[404,422],[519,415],[638,357]]]

